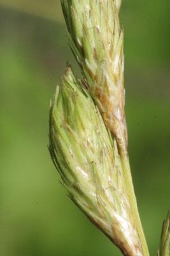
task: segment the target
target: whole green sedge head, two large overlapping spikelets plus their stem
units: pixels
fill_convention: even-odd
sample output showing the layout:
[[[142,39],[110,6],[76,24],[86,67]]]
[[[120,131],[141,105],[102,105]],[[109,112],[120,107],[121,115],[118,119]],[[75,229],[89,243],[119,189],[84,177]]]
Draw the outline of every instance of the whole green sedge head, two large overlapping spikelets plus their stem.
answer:
[[[83,79],[78,81],[67,67],[57,86],[49,149],[62,184],[92,223],[124,255],[149,256],[127,149],[121,2],[61,0]],[[162,250],[160,256],[170,256]]]

